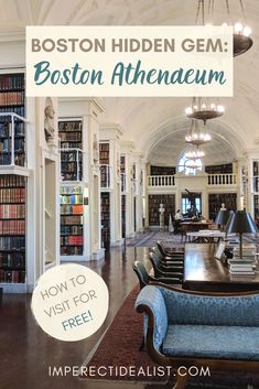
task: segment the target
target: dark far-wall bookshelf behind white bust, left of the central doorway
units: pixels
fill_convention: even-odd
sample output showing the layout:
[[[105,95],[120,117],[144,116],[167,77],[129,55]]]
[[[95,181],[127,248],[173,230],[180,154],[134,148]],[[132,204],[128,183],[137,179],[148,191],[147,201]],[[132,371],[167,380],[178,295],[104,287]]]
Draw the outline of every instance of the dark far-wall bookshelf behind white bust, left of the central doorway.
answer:
[[[149,226],[159,226],[159,208],[160,204],[164,205],[164,224],[169,225],[169,216],[175,214],[175,195],[174,194],[153,194],[149,195]]]

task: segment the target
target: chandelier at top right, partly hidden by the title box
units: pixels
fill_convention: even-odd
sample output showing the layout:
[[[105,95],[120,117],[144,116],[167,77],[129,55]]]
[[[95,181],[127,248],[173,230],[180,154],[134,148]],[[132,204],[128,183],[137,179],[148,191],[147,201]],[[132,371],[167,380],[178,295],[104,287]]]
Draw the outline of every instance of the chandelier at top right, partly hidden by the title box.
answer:
[[[233,34],[233,55],[237,56],[240,54],[246,53],[251,46],[252,46],[252,39],[250,37],[251,35],[251,29],[247,25],[246,22],[246,15],[245,15],[245,9],[242,4],[242,0],[239,0],[239,9],[241,13],[241,22],[231,22],[230,18],[230,8],[229,8],[229,0],[224,0],[225,6],[226,6],[226,13],[227,13],[227,21],[216,21],[215,20],[215,1],[214,0],[198,0],[197,4],[197,13],[196,13],[196,24],[198,20],[201,19],[201,22],[203,25],[205,24],[214,24],[214,22],[220,24],[226,24],[226,25],[233,25],[234,29],[234,34]],[[219,3],[219,2],[217,2]],[[234,7],[236,7],[237,1],[235,0]],[[222,6],[219,6],[219,11],[220,11]],[[205,14],[206,10],[206,14]]]

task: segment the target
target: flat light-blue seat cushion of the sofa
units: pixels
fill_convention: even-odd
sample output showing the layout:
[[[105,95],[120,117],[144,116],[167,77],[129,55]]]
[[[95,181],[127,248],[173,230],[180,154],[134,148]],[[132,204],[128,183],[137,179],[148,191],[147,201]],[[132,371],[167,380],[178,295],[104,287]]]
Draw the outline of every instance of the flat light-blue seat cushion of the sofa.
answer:
[[[166,356],[259,360],[259,328],[214,325],[169,325]]]

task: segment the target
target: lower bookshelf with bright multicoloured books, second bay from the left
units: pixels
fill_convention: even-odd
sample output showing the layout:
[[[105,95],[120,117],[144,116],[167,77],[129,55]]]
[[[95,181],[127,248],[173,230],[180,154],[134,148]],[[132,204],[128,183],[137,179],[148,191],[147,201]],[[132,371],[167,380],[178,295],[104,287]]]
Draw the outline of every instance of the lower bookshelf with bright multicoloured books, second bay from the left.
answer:
[[[61,186],[61,256],[83,256],[84,188]]]

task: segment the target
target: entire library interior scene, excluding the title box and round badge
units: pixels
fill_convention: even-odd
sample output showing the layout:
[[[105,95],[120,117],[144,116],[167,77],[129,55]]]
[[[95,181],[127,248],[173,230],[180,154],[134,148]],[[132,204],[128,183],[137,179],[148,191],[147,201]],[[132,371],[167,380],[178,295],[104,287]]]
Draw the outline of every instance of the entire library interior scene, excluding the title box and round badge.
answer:
[[[259,388],[259,2],[9,0],[0,14],[0,387]],[[26,97],[26,25],[206,23],[234,29],[234,97]],[[61,263],[109,290],[80,342],[31,312]],[[75,365],[127,372],[53,377]]]

